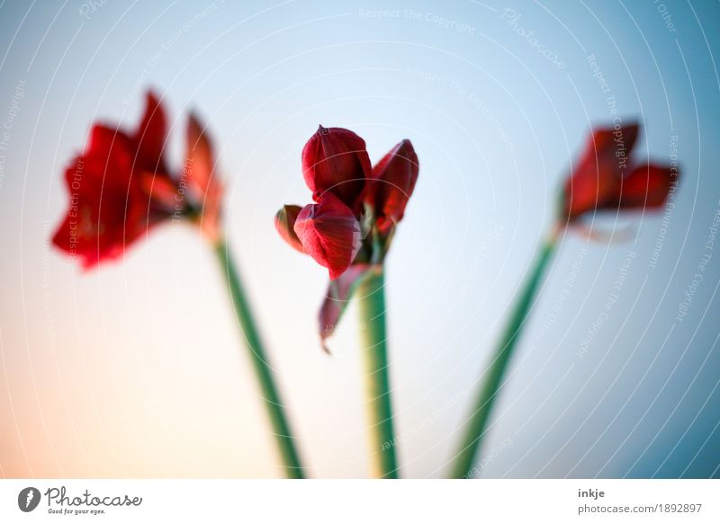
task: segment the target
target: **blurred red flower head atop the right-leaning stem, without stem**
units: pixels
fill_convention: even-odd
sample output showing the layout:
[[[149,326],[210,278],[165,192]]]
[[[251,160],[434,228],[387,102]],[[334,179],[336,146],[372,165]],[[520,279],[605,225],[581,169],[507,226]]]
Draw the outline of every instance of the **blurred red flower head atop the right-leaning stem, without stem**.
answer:
[[[659,208],[677,183],[671,165],[632,156],[640,126],[595,129],[563,191],[563,218],[574,222],[597,210]]]

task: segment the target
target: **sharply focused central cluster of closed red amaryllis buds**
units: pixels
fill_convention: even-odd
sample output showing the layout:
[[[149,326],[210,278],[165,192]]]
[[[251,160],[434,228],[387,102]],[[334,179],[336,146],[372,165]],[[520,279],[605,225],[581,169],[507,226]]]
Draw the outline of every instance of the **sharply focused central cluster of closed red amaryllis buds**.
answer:
[[[330,288],[320,310],[323,339],[358,282],[383,264],[418,172],[410,140],[402,140],[374,167],[365,140],[347,129],[320,126],[303,148],[302,174],[315,203],[284,206],[275,227],[294,249],[329,270]]]

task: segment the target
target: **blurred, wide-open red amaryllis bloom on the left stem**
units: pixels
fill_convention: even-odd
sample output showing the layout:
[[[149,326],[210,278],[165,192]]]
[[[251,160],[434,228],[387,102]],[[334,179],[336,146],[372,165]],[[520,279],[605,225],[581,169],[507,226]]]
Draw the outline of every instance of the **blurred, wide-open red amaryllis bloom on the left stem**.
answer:
[[[184,171],[167,167],[166,112],[154,93],[137,129],[95,124],[85,151],[70,163],[67,214],[53,244],[85,269],[120,256],[149,228],[170,217],[198,222],[211,238],[219,223],[220,184],[213,179],[211,145],[190,118]]]

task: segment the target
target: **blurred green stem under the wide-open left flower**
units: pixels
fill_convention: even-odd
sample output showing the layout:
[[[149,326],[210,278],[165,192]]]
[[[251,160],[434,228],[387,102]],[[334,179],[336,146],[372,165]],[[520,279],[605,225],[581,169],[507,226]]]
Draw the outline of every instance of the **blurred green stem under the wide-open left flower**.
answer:
[[[302,465],[295,450],[293,434],[290,430],[287,418],[285,417],[284,406],[280,400],[280,394],[275,386],[273,374],[268,363],[265,350],[263,349],[260,334],[257,332],[255,321],[250,312],[250,305],[247,301],[245,290],[235,264],[232,262],[228,244],[224,241],[215,247],[215,253],[225,275],[225,283],[232,298],[235,315],[238,318],[238,325],[244,334],[247,351],[250,360],[255,368],[257,381],[264,396],[267,415],[273,425],[275,442],[277,443],[280,456],[284,463],[284,472],[289,478],[302,478]]]

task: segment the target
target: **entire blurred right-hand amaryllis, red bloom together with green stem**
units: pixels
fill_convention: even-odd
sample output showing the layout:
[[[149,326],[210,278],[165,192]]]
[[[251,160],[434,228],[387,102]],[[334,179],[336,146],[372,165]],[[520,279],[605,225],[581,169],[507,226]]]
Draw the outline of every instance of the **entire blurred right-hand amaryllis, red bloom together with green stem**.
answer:
[[[536,306],[536,296],[543,288],[554,253],[563,245],[559,233],[564,227],[579,226],[582,217],[596,210],[617,212],[659,208],[669,195],[674,195],[679,175],[677,165],[638,162],[633,158],[639,132],[640,127],[636,124],[622,126],[618,123],[612,128],[594,129],[580,161],[573,165],[559,202],[557,223],[553,224],[545,241],[538,244],[536,262],[518,289],[508,313],[508,324],[501,331],[489,367],[482,369],[484,382],[463,421],[463,439],[455,453],[451,477],[469,478],[477,473],[475,458],[489,430],[494,403],[505,386],[505,374],[513,352],[517,350],[527,319]],[[605,235],[590,231],[589,236]]]

